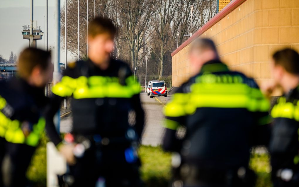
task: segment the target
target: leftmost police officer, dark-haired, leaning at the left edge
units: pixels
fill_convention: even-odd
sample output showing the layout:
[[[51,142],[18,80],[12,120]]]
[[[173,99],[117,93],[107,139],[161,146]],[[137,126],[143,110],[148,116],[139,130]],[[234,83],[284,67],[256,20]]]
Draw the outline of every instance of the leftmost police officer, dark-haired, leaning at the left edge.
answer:
[[[0,137],[4,186],[25,186],[26,170],[44,132],[44,87],[52,75],[51,54],[26,48],[16,78],[1,83]],[[5,148],[4,148],[5,147]]]

